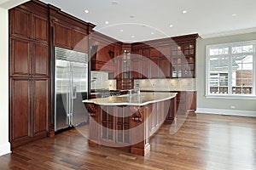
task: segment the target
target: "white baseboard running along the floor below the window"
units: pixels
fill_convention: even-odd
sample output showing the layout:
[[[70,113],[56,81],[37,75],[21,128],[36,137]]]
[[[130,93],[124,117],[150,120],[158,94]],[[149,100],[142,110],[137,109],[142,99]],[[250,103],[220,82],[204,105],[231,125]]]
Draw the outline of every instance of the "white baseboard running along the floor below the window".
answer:
[[[215,115],[227,116],[252,116],[256,117],[256,111],[239,111],[239,110],[225,110],[225,109],[211,109],[211,108],[197,108],[195,113],[207,113]]]

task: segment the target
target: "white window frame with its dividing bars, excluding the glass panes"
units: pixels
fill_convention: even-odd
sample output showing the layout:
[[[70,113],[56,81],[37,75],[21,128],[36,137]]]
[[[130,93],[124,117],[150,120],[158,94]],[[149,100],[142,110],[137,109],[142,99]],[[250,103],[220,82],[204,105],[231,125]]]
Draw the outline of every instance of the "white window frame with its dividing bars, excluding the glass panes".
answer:
[[[240,54],[232,54],[232,48],[237,46],[246,46],[253,44],[253,52],[250,53],[240,53]],[[211,48],[228,48],[228,54],[216,54],[210,55]],[[230,89],[232,89],[232,57],[247,54],[253,55],[253,93],[252,94],[232,94]],[[228,42],[228,43],[220,43],[220,44],[212,44],[206,46],[206,97],[207,98],[230,98],[230,99],[256,99],[256,40],[252,41],[244,41],[244,42]],[[211,94],[210,93],[210,58],[212,56],[216,57],[228,57],[229,59],[229,66],[228,66],[228,73],[229,73],[229,80],[228,80],[228,94]],[[219,73],[218,73],[219,74]]]

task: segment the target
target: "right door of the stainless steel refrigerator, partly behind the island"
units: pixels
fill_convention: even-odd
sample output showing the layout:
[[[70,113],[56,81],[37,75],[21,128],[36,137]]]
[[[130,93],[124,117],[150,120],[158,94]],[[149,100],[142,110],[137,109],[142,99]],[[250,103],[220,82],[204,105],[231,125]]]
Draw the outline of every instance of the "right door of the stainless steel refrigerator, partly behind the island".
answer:
[[[85,63],[71,62],[72,71],[72,124],[78,126],[89,121],[88,112],[82,102],[88,99],[88,65]]]

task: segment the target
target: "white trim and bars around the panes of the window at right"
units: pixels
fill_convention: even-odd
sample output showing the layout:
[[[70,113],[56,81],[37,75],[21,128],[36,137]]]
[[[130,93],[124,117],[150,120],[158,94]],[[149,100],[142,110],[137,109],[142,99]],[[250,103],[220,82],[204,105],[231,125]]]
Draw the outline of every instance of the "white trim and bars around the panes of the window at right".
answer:
[[[253,94],[210,94],[210,87],[209,87],[209,77],[210,77],[210,71],[209,71],[209,65],[210,65],[210,48],[224,48],[224,47],[229,47],[233,46],[241,46],[241,45],[250,45],[254,43],[253,46],[253,53],[245,53],[245,54],[251,54],[253,55]],[[213,44],[213,45],[207,45],[206,46],[206,54],[207,54],[207,59],[206,59],[206,98],[221,98],[221,99],[256,99],[256,40],[253,41],[245,41],[245,42],[228,42],[228,43],[221,43],[221,44]],[[229,54],[223,54],[223,55],[229,55],[230,56],[230,49],[229,49]],[[223,56],[222,55],[222,56]],[[231,54],[232,56],[236,54]],[[237,54],[239,55],[239,54]],[[219,56],[219,55],[214,55],[214,56]],[[229,57],[230,59],[230,57]],[[229,62],[231,65],[231,62]],[[231,67],[229,65],[229,74],[231,71]],[[230,80],[231,79],[231,80]],[[232,82],[232,77],[229,77],[229,83]],[[229,90],[230,90],[231,85],[229,84]]]

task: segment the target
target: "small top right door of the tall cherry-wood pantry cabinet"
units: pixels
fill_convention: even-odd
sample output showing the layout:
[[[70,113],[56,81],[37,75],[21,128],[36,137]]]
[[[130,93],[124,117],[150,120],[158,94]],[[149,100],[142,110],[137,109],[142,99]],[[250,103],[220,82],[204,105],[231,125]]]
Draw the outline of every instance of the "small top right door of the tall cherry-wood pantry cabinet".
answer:
[[[48,32],[48,19],[32,14],[32,38],[48,42]]]

